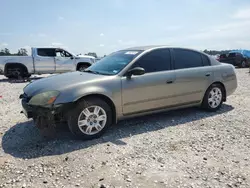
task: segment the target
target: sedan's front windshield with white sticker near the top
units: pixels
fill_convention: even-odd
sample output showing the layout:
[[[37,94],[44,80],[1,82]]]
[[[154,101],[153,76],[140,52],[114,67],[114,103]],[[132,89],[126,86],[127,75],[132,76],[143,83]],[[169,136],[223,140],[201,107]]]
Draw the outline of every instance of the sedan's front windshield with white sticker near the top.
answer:
[[[128,65],[142,50],[121,50],[104,57],[91,65],[86,71],[92,71],[99,74],[115,75],[118,74],[126,65]]]

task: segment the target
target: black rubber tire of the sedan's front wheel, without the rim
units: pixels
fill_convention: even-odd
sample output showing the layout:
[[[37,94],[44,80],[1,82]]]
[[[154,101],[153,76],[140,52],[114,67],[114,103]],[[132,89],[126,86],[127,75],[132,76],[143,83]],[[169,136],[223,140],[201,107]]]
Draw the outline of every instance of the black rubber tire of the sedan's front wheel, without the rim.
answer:
[[[104,127],[97,132],[96,134],[88,135],[85,134],[80,130],[78,127],[78,118],[81,114],[81,112],[88,107],[91,106],[99,106],[101,107],[107,116],[106,123]],[[110,106],[103,100],[96,98],[96,97],[91,97],[91,98],[86,98],[81,101],[79,101],[75,108],[72,109],[69,114],[67,115],[68,119],[68,126],[73,135],[75,135],[77,138],[82,139],[82,140],[91,140],[95,138],[99,138],[103,133],[107,130],[107,128],[112,124],[112,110]]]

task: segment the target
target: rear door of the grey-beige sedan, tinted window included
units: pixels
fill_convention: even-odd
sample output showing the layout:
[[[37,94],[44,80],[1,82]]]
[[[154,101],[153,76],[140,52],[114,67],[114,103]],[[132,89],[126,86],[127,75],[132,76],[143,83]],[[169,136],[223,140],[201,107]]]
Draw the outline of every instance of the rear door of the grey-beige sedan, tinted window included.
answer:
[[[174,49],[175,92],[179,105],[201,102],[212,83],[213,67],[207,56],[188,49]]]

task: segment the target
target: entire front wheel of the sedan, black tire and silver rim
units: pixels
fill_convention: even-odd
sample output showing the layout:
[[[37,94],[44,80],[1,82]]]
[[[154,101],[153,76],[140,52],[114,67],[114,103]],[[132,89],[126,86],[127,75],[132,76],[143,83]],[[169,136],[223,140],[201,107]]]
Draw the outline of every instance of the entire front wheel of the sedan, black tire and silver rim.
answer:
[[[112,124],[110,106],[99,98],[87,98],[68,115],[70,131],[83,140],[100,137]]]

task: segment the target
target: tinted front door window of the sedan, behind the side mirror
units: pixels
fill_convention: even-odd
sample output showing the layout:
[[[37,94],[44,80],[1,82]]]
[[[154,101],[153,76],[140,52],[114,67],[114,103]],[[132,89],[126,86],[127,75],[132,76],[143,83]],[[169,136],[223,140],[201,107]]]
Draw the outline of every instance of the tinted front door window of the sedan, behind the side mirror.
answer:
[[[170,50],[158,49],[149,52],[136,61],[132,67],[142,67],[146,73],[170,70]]]

